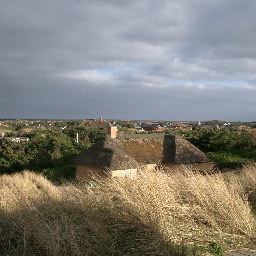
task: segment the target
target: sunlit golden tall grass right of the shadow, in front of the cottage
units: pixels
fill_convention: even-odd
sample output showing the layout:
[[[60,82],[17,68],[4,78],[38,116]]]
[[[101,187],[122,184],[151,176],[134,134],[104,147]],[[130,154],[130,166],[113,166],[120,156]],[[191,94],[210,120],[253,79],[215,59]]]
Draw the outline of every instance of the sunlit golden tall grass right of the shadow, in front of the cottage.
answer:
[[[242,235],[255,237],[246,189],[238,179],[226,182],[221,173],[201,175],[186,168],[172,174],[144,172],[136,181],[107,183],[106,193],[119,195],[126,211],[134,209],[133,214],[166,241],[181,243],[185,239],[205,244],[208,240],[229,240],[231,234],[239,239]]]

